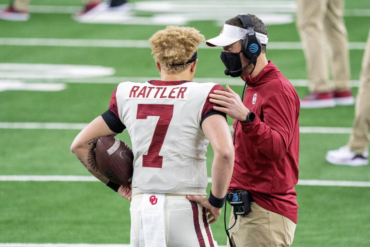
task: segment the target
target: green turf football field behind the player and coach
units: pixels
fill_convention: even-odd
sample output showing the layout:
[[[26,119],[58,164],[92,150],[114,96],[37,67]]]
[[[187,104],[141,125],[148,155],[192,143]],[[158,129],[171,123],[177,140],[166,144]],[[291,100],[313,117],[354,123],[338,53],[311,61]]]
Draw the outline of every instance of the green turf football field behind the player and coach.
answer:
[[[135,2],[139,1],[131,1]],[[4,9],[8,3],[8,0],[0,0],[0,7]],[[110,95],[122,80],[159,79],[145,41],[165,28],[164,24],[78,23],[71,15],[79,9],[82,9],[81,0],[31,0],[30,20],[0,20],[0,247],[7,246],[4,243],[129,243],[129,201],[102,183],[14,181],[22,178],[20,176],[31,175],[47,178],[90,176],[70,151],[71,142],[81,130],[78,124],[83,126],[107,110]],[[246,6],[228,18],[248,11]],[[256,11],[263,13],[263,9]],[[266,56],[303,97],[307,93],[305,59],[301,49],[289,47],[287,43],[299,44],[299,35],[294,13],[288,9],[286,13],[293,16],[293,21],[267,24]],[[351,80],[356,95],[364,51],[361,47],[369,33],[370,2],[347,0],[345,13],[352,47]],[[158,13],[134,8],[132,14],[149,18]],[[204,14],[210,15],[206,10]],[[200,30],[206,39],[218,35],[221,30],[218,20],[195,18],[186,25]],[[241,93],[242,81],[224,75],[220,52],[217,48],[205,49],[205,45],[199,49],[194,81],[230,84],[234,91]],[[11,69],[8,63],[12,63]],[[38,71],[36,67],[25,69],[20,64],[55,67]],[[66,72],[58,67],[60,64],[90,67],[73,67]],[[90,74],[82,75],[83,71]],[[91,74],[94,72],[101,74],[94,76]],[[303,86],[299,84],[301,81]],[[37,83],[50,86],[54,91],[36,89]],[[29,90],[24,90],[26,85]],[[57,86],[61,89],[54,88]],[[327,150],[346,144],[353,116],[354,106],[300,111],[299,178],[302,183],[296,186],[299,217],[293,241],[295,247],[370,246],[370,168],[334,166],[324,158]],[[228,123],[232,122],[228,118]],[[324,133],[316,133],[307,127],[326,128],[323,128]],[[343,131],[330,132],[337,127],[344,127]],[[127,131],[117,138],[131,145]],[[213,151],[211,147],[208,149],[210,177]],[[305,181],[316,182],[309,186],[303,185]],[[323,186],[324,181],[334,182]],[[340,186],[338,181],[349,183]],[[361,181],[367,183],[357,183]],[[223,214],[211,227],[215,240],[226,245],[222,218]]]

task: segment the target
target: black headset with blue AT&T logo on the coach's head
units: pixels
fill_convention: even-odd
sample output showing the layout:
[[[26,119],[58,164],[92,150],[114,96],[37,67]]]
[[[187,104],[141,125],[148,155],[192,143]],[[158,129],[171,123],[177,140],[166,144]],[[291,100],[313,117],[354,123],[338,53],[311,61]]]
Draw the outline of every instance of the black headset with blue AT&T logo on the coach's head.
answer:
[[[252,64],[261,54],[261,42],[257,39],[255,31],[253,31],[253,21],[249,14],[238,14],[236,17],[242,21],[244,29],[248,31],[242,42],[242,53],[250,60],[249,64]]]

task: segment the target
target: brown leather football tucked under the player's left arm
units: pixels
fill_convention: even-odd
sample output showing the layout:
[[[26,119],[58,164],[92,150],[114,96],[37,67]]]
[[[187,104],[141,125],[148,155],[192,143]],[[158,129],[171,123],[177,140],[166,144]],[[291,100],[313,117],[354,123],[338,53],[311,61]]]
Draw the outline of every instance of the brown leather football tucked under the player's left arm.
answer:
[[[114,137],[102,136],[96,143],[95,158],[103,176],[116,184],[130,186],[134,154],[126,143]]]

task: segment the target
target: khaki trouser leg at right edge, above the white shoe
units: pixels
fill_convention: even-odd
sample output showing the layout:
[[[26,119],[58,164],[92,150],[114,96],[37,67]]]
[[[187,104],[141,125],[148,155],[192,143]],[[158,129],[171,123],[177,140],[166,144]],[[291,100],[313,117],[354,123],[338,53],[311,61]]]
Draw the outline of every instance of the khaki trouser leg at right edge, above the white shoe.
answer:
[[[370,134],[370,31],[362,60],[359,93],[354,112],[353,131],[349,139],[350,150],[362,153],[369,150]]]

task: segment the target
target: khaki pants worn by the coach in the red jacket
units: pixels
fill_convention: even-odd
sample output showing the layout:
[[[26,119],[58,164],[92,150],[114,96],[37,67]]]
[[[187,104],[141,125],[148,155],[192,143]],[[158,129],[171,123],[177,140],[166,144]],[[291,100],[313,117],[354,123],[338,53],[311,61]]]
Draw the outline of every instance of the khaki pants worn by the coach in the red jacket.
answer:
[[[245,216],[238,216],[236,224],[229,230],[233,247],[275,247],[290,246],[293,242],[296,224],[281,214],[273,213],[250,204],[251,211]],[[235,222],[231,213],[229,227]],[[227,240],[229,247],[229,240]]]

